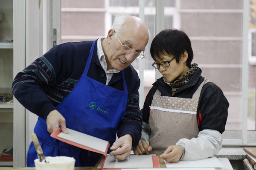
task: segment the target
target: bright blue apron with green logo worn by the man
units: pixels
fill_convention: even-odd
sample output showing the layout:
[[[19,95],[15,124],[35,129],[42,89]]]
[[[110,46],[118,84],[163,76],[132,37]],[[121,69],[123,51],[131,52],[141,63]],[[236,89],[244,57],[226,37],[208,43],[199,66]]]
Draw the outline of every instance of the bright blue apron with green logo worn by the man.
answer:
[[[117,127],[125,115],[128,90],[123,70],[124,92],[87,77],[95,42],[90,49],[83,75],[56,108],[66,119],[67,128],[109,141],[112,145],[116,140]],[[102,156],[50,137],[43,118],[38,118],[34,132],[45,156],[73,157],[76,159],[76,167],[94,166]],[[27,167],[35,167],[34,160],[38,158],[32,143],[27,153]]]

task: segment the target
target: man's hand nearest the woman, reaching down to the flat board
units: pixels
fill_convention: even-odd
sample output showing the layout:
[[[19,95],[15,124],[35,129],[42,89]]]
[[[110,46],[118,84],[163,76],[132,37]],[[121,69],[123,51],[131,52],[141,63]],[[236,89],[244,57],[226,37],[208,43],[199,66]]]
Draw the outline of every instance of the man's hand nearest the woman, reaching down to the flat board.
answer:
[[[124,160],[131,154],[132,137],[131,135],[124,135],[117,139],[110,148],[113,150],[109,155],[114,156],[118,160]],[[118,149],[119,148],[119,149]]]

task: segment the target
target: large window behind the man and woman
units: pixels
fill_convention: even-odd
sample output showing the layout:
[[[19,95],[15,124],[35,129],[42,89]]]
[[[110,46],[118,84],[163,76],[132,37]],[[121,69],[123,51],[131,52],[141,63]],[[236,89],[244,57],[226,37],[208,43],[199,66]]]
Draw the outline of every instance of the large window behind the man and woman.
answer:
[[[254,1],[251,0],[250,5],[256,4]],[[62,43],[105,37],[115,14],[139,16],[139,2],[139,0],[93,2],[76,0],[69,3],[68,0],[62,0]],[[144,2],[144,19],[151,37],[145,48],[145,60],[134,61],[132,65],[135,69],[139,69],[139,62],[144,62],[142,81],[145,98],[155,81],[156,73],[151,66],[153,60],[149,49],[155,36],[155,11],[158,7],[156,0]],[[183,29],[189,35],[194,51],[192,63],[198,63],[198,67],[203,70],[202,76],[217,84],[230,103],[223,144],[256,145],[256,27],[250,27],[248,41],[244,41],[247,40],[243,35],[243,26],[246,25],[243,22],[245,1],[165,0],[163,2],[164,28]],[[254,12],[252,9],[250,14]],[[255,19],[250,18],[253,25]],[[243,51],[243,46],[247,47],[247,44],[248,58],[244,56]],[[243,62],[247,59],[248,65]]]

